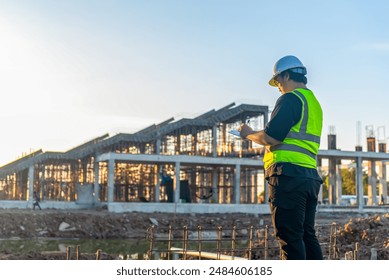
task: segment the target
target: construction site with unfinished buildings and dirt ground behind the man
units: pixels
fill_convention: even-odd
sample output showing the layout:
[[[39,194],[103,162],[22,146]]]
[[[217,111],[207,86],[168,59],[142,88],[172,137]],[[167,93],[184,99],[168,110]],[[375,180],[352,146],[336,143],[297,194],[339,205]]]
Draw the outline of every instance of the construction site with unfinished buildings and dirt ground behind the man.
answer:
[[[232,103],[133,134],[105,134],[68,151],[25,155],[0,167],[5,221],[0,238],[123,243],[143,238],[146,249],[125,256],[135,259],[202,259],[207,254],[214,259],[279,259],[263,147],[228,133],[248,122],[263,129],[268,117],[267,106]],[[318,232],[326,259],[388,259],[389,154],[375,136],[373,131],[368,135],[367,151],[361,143],[355,151],[341,151],[330,129],[327,149],[319,150],[318,169],[325,183]],[[344,169],[353,174],[347,193]],[[42,211],[32,211],[35,192]],[[228,248],[222,245],[226,242]],[[205,243],[214,246],[204,249]],[[19,256],[0,251],[2,259],[65,258],[64,251]],[[84,258],[95,257],[89,252]]]

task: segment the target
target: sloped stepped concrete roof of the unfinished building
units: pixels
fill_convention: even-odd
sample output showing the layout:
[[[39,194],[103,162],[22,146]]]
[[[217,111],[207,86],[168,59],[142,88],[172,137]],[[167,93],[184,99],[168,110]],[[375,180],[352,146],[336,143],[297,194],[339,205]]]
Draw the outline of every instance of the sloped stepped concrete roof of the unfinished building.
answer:
[[[172,117],[164,122],[153,124],[132,134],[119,133],[113,136],[104,134],[65,152],[44,152],[40,149],[1,166],[0,178],[6,176],[7,174],[24,170],[31,165],[46,161],[72,161],[88,156],[103,154],[109,152],[107,149],[120,142],[154,142],[161,139],[163,136],[173,134],[177,130],[180,130],[180,134],[185,134],[185,132],[190,134],[191,132],[202,128],[211,129],[213,126],[221,122],[235,122],[242,119],[249,119],[251,117],[258,116],[258,114],[262,114],[264,116],[264,123],[266,123],[268,110],[268,106],[250,104],[241,104],[236,106],[235,103],[231,103],[219,110],[210,110],[194,119],[183,118],[175,121]]]

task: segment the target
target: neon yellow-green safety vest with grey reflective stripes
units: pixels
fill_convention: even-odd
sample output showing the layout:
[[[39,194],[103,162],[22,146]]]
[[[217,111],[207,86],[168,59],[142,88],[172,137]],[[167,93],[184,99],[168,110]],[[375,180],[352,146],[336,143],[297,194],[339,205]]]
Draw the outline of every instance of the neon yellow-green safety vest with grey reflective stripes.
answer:
[[[308,89],[292,91],[302,102],[300,121],[289,131],[284,141],[275,146],[266,146],[263,158],[268,169],[275,163],[288,162],[307,168],[316,168],[323,123],[323,112],[319,102]]]

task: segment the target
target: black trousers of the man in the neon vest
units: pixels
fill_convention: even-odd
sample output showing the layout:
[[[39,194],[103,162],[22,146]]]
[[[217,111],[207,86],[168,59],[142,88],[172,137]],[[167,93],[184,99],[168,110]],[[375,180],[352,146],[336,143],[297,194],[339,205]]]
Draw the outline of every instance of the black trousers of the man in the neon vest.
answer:
[[[282,259],[322,260],[315,233],[320,181],[274,176],[268,179],[272,223]]]

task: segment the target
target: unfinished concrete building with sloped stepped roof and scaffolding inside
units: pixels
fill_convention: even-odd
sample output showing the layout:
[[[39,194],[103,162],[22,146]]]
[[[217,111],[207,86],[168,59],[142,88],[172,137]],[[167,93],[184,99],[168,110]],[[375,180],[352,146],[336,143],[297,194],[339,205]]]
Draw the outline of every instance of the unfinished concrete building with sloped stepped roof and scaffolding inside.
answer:
[[[49,208],[258,206],[266,196],[261,147],[228,133],[247,121],[263,129],[268,107],[232,103],[133,134],[105,134],[66,152],[39,150],[0,168],[0,200],[5,207],[31,208],[36,191]]]

